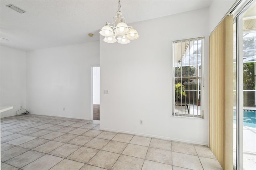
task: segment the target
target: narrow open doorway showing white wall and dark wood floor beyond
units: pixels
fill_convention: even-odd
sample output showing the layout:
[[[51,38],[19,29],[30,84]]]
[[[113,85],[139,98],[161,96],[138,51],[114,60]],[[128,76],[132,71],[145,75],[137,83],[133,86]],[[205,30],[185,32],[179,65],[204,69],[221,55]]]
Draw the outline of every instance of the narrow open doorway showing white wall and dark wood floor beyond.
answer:
[[[100,67],[92,67],[93,120],[100,120]]]

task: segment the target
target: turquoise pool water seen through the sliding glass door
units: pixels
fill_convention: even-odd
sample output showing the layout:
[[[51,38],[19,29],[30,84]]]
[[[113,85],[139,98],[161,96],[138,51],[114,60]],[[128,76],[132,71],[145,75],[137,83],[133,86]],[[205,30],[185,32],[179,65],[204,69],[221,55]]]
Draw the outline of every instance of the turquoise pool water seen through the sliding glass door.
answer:
[[[236,111],[234,111],[234,123],[236,123]],[[255,110],[244,110],[244,126],[256,128]]]

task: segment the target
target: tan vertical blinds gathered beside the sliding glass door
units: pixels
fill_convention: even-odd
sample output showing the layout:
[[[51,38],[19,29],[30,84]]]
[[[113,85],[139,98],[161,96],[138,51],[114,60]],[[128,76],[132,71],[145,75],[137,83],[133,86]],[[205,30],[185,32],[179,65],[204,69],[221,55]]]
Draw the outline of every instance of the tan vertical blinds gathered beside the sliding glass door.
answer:
[[[210,35],[209,147],[224,170],[233,168],[233,16]]]

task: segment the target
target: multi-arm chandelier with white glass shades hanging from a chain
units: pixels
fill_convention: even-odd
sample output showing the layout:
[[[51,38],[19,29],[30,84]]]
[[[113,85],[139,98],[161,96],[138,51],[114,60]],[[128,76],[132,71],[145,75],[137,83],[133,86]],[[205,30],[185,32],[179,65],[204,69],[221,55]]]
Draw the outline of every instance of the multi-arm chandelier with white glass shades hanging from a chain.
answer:
[[[106,26],[100,30],[100,35],[105,37],[104,42],[126,44],[130,43],[130,40],[139,38],[138,32],[132,26],[127,26],[121,11],[120,0],[118,0],[118,11],[113,17],[113,23],[107,22]]]

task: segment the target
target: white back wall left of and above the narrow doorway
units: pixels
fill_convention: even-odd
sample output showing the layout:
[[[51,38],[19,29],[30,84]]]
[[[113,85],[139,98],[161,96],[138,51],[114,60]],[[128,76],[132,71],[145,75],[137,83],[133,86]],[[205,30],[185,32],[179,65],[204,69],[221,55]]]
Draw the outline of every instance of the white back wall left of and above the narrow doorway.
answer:
[[[92,119],[91,68],[99,65],[99,51],[97,41],[27,52],[29,111]]]

